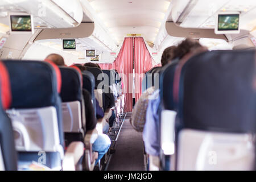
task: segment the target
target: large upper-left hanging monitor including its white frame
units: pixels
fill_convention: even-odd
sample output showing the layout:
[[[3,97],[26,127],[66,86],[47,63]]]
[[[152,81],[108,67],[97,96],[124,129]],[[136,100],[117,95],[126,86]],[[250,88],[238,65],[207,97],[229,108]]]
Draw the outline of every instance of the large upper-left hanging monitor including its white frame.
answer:
[[[32,15],[22,14],[22,13],[13,13],[10,14],[10,27],[11,32],[16,33],[34,33],[34,24]]]

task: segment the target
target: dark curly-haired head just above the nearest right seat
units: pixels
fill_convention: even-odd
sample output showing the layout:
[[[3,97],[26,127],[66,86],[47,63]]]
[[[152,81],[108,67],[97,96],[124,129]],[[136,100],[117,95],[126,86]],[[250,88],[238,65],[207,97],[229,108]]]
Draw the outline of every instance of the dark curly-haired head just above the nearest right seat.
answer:
[[[192,52],[193,55],[196,53],[207,51],[207,47],[202,46],[198,40],[187,38],[181,42],[175,49],[174,58],[181,59],[187,53]]]

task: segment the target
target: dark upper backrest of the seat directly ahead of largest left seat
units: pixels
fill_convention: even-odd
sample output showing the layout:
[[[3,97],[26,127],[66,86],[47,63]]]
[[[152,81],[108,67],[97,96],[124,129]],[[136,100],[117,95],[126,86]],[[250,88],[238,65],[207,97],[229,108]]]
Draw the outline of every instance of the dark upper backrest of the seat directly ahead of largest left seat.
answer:
[[[80,69],[73,67],[59,67],[61,73],[61,92],[60,97],[63,102],[81,101],[82,100],[82,80]]]

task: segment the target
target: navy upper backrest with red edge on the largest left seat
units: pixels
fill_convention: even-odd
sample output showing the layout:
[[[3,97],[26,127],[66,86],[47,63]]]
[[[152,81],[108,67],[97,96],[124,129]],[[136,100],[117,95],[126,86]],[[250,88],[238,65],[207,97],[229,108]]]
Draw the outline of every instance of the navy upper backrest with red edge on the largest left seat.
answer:
[[[26,60],[3,60],[3,63],[9,72],[13,96],[10,108],[56,105],[56,97],[61,88],[61,76],[55,64]]]

